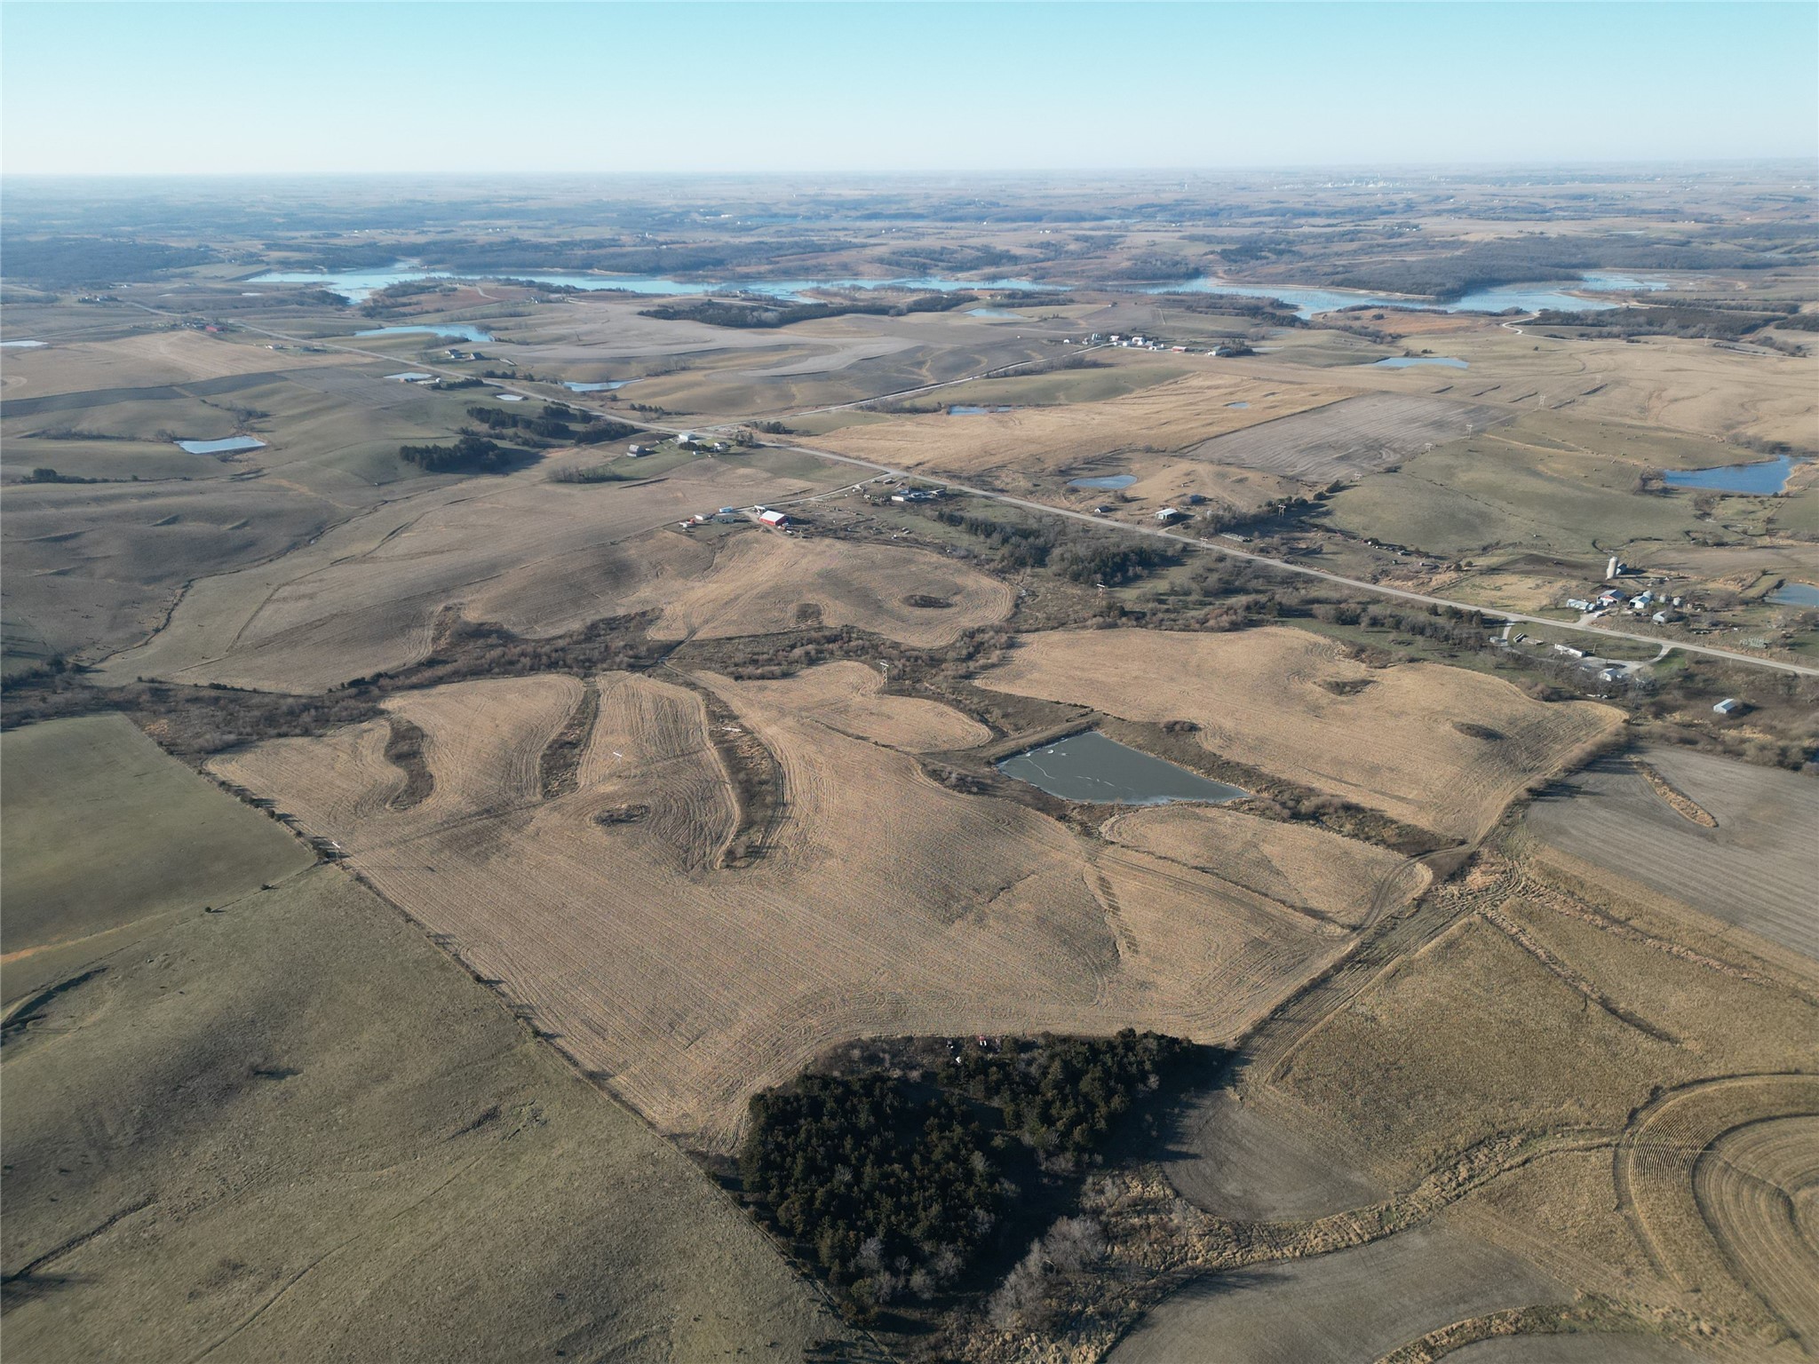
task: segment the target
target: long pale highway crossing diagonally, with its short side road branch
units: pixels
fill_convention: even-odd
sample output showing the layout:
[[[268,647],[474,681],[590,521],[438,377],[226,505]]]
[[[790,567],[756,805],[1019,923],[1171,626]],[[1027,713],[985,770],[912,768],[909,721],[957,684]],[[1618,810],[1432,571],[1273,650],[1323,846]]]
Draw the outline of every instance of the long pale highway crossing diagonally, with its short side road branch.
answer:
[[[135,307],[142,307],[147,313],[156,313],[160,316],[178,316],[176,313],[166,313],[162,309],[149,307],[146,304],[135,304]],[[255,326],[251,326],[247,322],[235,322],[233,326],[242,327],[244,331],[256,333],[260,336],[271,336],[273,340],[284,340],[284,342],[291,342],[291,344],[296,344],[296,346],[322,346],[322,347],[333,349],[333,351],[346,351],[349,355],[360,355],[360,356],[366,356],[369,360],[384,360],[386,364],[393,364],[397,360],[397,356],[384,355],[382,351],[367,351],[367,349],[362,349],[358,346],[346,346],[346,344],[340,344],[340,342],[322,340],[318,336],[291,336],[291,335],[282,333],[282,331],[269,331],[266,327],[255,327]],[[1097,347],[1082,347],[1082,349],[1097,349]],[[1075,351],[1075,355],[1079,355],[1079,353],[1082,353],[1082,351]],[[888,395],[879,395],[877,398],[862,398],[859,402],[839,404],[839,407],[857,407],[857,406],[862,406],[864,402],[880,402],[880,400],[888,400],[888,398],[893,398],[893,396],[911,396],[911,395],[917,395],[917,393],[933,393],[935,389],[953,387],[957,384],[971,384],[971,382],[975,382],[979,378],[986,378],[986,376],[1010,375],[1010,373],[1015,373],[1017,369],[1028,369],[1030,366],[1037,366],[1037,364],[1048,364],[1048,360],[1028,360],[1024,364],[1002,366],[999,369],[988,369],[988,371],[984,371],[980,375],[966,375],[964,378],[951,378],[951,380],[946,380],[946,382],[940,382],[940,384],[924,384],[924,386],[915,387],[915,389],[902,389],[900,393],[888,393]],[[438,375],[462,376],[462,371],[451,369],[447,366],[424,364],[424,369],[427,369],[431,373],[438,373]],[[504,384],[504,382],[497,384],[497,387],[502,393],[522,393],[528,398],[540,398],[540,396],[544,396],[544,395],[537,393],[535,389],[511,387],[511,384]],[[611,418],[615,422],[624,422],[626,426],[637,426],[638,429],[644,429],[644,431],[660,431],[664,435],[675,435],[677,431],[708,431],[708,429],[715,429],[715,427],[702,427],[702,426],[664,426],[662,422],[633,420],[633,418],[628,418],[628,416],[624,416],[622,413],[617,413],[617,411],[606,411],[606,409],[600,409],[600,407],[589,407],[584,402],[577,402],[573,396],[564,396],[562,402],[569,404],[571,407],[582,409],[582,411],[591,411],[591,413],[595,413],[598,416],[608,416],[608,418]],[[824,413],[824,411],[835,411],[835,407],[815,407],[811,411]],[[1040,513],[1040,515],[1046,515],[1046,517],[1062,517],[1066,520],[1079,520],[1079,522],[1086,522],[1088,526],[1099,526],[1099,527],[1117,526],[1117,529],[1130,531],[1131,535],[1148,535],[1148,537],[1153,537],[1157,540],[1170,540],[1171,544],[1188,546],[1191,549],[1213,551],[1213,553],[1226,555],[1228,558],[1242,558],[1242,560],[1248,560],[1251,564],[1262,564],[1266,567],[1277,569],[1281,573],[1299,573],[1304,578],[1317,578],[1321,582],[1332,582],[1333,586],[1352,587],[1353,591],[1368,593],[1372,597],[1388,597],[1392,600],[1415,602],[1419,606],[1450,606],[1450,607],[1459,609],[1459,611],[1475,611],[1475,613],[1479,613],[1481,617],[1484,617],[1488,620],[1512,620],[1512,622],[1524,624],[1524,626],[1548,626],[1550,629],[1568,629],[1568,631],[1573,631],[1573,633],[1579,633],[1579,635],[1597,635],[1597,637],[1610,638],[1610,640],[1633,640],[1633,642],[1639,642],[1639,644],[1653,644],[1653,646],[1663,646],[1663,647],[1672,647],[1672,649],[1684,649],[1686,653],[1697,653],[1697,655],[1701,655],[1704,658],[1724,658],[1726,662],[1734,662],[1734,664],[1748,664],[1750,667],[1768,667],[1768,669],[1774,669],[1774,671],[1779,671],[1779,673],[1795,673],[1799,677],[1819,677],[1819,667],[1810,667],[1806,664],[1783,662],[1779,658],[1755,658],[1754,655],[1748,655],[1748,653],[1734,653],[1730,649],[1719,649],[1719,647],[1713,647],[1710,644],[1690,644],[1690,642],[1684,642],[1684,640],[1663,640],[1659,635],[1635,635],[1635,633],[1626,631],[1626,629],[1608,629],[1604,626],[1568,626],[1568,624],[1563,624],[1559,620],[1550,620],[1548,617],[1533,617],[1533,615],[1526,615],[1523,611],[1508,611],[1508,609],[1497,607],[1497,606],[1479,606],[1477,602],[1459,602],[1459,600],[1453,600],[1450,597],[1435,597],[1432,593],[1417,593],[1417,591],[1410,591],[1406,587],[1384,587],[1379,582],[1368,582],[1364,578],[1348,578],[1342,573],[1330,573],[1328,569],[1319,569],[1319,567],[1313,567],[1311,564],[1295,564],[1293,560],[1275,558],[1271,555],[1259,555],[1259,553],[1253,553],[1250,549],[1239,549],[1231,542],[1211,544],[1211,542],[1201,540],[1199,537],[1193,537],[1193,535],[1182,535],[1181,531],[1171,531],[1166,526],[1131,526],[1128,522],[1106,522],[1102,517],[1093,517],[1091,513],[1086,513],[1086,511],[1073,511],[1070,507],[1057,507],[1057,506],[1050,506],[1048,502],[1031,502],[1030,498],[1011,496],[1010,493],[997,493],[997,491],[991,491],[988,487],[971,487],[968,484],[957,484],[957,482],[942,478],[939,473],[931,473],[928,469],[919,469],[919,471],[893,469],[888,464],[873,464],[871,460],[860,460],[860,458],[857,458],[853,455],[837,455],[837,453],[833,453],[829,449],[817,449],[815,446],[797,446],[797,444],[784,446],[784,444],[773,444],[773,442],[768,442],[768,446],[771,449],[791,449],[791,451],[797,451],[800,455],[813,455],[815,458],[831,460],[833,464],[848,464],[848,466],[851,466],[855,469],[869,469],[873,473],[873,476],[877,476],[877,475],[891,475],[895,478],[922,478],[926,482],[939,482],[939,484],[944,484],[950,489],[955,489],[959,493],[966,493],[968,496],[979,496],[979,498],[986,498],[990,502],[1002,502],[1006,506],[1022,507],[1026,511],[1035,511],[1035,513]]]

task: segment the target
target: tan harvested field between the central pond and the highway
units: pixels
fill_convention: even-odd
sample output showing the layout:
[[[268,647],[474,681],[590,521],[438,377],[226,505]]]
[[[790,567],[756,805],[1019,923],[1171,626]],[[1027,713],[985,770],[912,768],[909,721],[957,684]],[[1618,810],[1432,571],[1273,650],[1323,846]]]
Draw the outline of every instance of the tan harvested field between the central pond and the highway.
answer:
[[[1024,637],[980,686],[1126,720],[1191,720],[1222,757],[1462,840],[1623,718],[1593,702],[1530,700],[1459,667],[1370,669],[1330,640],[1273,626]]]

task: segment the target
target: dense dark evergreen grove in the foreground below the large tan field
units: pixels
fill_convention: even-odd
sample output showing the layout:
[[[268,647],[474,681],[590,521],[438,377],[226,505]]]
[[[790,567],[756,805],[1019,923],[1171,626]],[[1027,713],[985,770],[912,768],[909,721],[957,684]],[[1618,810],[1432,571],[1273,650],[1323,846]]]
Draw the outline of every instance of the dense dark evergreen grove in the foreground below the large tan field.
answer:
[[[1020,1246],[1031,1186],[1099,1158],[1186,1053],[1133,1029],[964,1038],[931,1051],[926,1071],[804,1075],[751,1100],[746,1193],[859,1317],[904,1293],[931,1299],[988,1248]]]

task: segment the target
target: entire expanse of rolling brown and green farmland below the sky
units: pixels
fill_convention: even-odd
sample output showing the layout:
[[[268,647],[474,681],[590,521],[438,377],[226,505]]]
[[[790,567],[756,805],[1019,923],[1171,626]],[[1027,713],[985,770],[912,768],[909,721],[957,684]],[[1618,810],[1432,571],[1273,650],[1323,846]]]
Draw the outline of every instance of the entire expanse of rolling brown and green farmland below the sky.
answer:
[[[9,182],[9,1351],[1812,1353],[1808,178]]]

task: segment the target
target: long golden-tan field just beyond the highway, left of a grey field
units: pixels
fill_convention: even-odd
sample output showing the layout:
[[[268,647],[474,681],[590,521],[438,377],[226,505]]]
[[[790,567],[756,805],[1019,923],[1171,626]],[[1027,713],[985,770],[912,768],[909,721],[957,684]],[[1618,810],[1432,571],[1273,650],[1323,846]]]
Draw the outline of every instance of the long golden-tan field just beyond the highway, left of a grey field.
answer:
[[[1091,375],[1091,371],[1084,371]],[[957,389],[953,402],[968,402]],[[955,478],[995,469],[1059,473],[1111,451],[1188,449],[1224,431],[1268,422],[1342,396],[1339,389],[1266,386],[1228,371],[1197,373],[1104,402],[1022,407],[973,416],[899,416],[844,427],[815,444]],[[1248,402],[1248,409],[1228,407]]]

